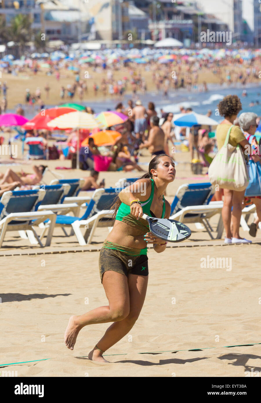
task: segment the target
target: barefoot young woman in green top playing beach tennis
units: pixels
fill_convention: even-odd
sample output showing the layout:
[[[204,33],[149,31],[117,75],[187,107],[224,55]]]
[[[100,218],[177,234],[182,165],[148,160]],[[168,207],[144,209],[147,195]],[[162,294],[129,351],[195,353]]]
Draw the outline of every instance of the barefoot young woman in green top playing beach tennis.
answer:
[[[65,331],[65,344],[73,350],[79,331],[86,325],[113,322],[90,351],[90,360],[107,363],[102,353],[121,340],[134,326],[142,309],[148,284],[147,244],[157,253],[167,242],[148,232],[150,217],[169,218],[171,207],[164,199],[167,185],[175,179],[173,160],[161,154],[138,181],[119,193],[112,206],[115,224],[100,251],[100,278],[109,306],[101,306],[81,316],[71,316]]]

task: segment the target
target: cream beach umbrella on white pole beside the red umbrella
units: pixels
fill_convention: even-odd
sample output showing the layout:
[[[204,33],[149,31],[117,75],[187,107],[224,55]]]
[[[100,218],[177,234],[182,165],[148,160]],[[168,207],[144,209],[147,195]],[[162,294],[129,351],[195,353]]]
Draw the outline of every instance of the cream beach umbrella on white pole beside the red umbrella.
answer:
[[[94,115],[79,110],[59,116],[47,123],[49,127],[58,127],[59,129],[77,129],[77,169],[79,169],[79,129],[104,129],[105,126],[95,118]]]

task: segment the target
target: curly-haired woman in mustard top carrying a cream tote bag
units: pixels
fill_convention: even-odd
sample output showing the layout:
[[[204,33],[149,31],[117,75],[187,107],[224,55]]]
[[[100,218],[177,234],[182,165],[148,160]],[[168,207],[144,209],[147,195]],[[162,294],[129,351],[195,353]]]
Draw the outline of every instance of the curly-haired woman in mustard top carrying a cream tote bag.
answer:
[[[242,104],[237,95],[228,95],[223,98],[218,104],[219,114],[224,116],[223,122],[217,126],[217,147],[220,150],[226,140],[228,130],[233,125],[238,112],[242,110]],[[242,147],[244,156],[247,158],[247,154],[250,150],[250,144],[246,140],[240,127],[234,126],[230,130],[228,143],[236,147],[238,144]],[[253,156],[253,160],[257,160],[257,156]],[[255,158],[255,159],[254,159]],[[215,160],[215,159],[214,159]],[[214,162],[213,160],[213,162]],[[223,187],[223,186],[221,186]],[[222,209],[223,224],[226,231],[225,243],[251,243],[247,239],[242,239],[239,236],[240,218],[242,212],[242,202],[244,198],[245,189],[236,191],[226,189],[224,187],[224,205]],[[233,210],[232,210],[233,207]],[[231,214],[232,213],[232,214]],[[233,234],[230,229],[232,216]]]

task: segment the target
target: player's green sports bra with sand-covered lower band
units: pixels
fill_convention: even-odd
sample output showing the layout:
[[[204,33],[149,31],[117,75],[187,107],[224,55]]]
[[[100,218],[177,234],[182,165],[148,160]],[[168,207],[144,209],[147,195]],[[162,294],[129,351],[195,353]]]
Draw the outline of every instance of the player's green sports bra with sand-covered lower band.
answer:
[[[153,179],[150,179],[150,180],[151,180],[150,197],[145,202],[142,202],[141,206],[142,206],[142,210],[143,210],[144,214],[147,214],[147,216],[150,216],[150,217],[155,217],[155,215],[150,211],[150,207],[151,207],[153,196],[154,196],[154,180]],[[165,198],[163,196],[163,210],[162,210],[161,218],[164,218],[164,216],[165,216]],[[144,231],[148,230],[148,222],[146,220],[144,220],[143,218],[140,218],[139,220],[137,220],[137,218],[134,217],[130,213],[130,206],[128,206],[125,203],[121,203],[121,205],[119,206],[119,210],[117,212],[115,219],[119,220],[119,221],[123,221],[128,225],[142,228],[142,229],[144,229]]]

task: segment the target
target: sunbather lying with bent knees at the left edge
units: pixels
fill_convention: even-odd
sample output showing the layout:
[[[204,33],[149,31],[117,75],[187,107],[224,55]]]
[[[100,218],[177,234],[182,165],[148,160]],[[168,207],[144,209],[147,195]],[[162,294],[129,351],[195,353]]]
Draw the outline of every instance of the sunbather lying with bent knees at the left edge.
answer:
[[[16,173],[8,168],[5,174],[0,174],[0,185],[13,182],[19,182],[20,186],[37,185],[42,180],[44,171],[46,170],[47,166],[33,165],[32,168],[35,172],[34,174],[26,174],[25,172],[23,172],[23,170]]]

